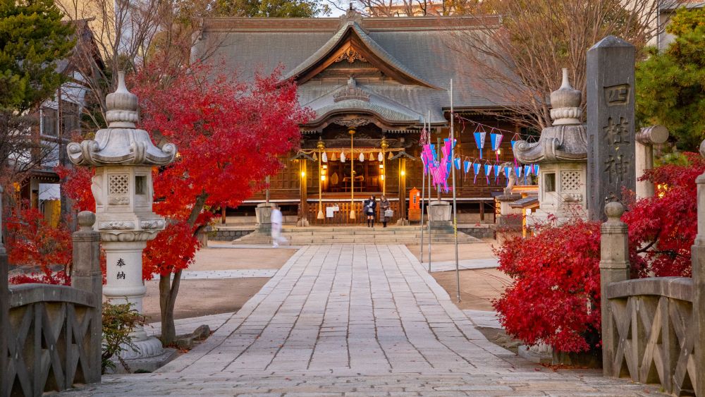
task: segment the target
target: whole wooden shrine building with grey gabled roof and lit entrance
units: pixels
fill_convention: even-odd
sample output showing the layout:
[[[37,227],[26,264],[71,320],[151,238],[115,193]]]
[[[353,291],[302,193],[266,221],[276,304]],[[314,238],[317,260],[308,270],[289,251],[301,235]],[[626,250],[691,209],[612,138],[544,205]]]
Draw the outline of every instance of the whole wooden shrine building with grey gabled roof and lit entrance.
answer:
[[[270,181],[269,200],[279,204],[288,223],[362,224],[362,202],[383,194],[391,202],[392,221],[398,221],[409,219],[410,190],[422,189],[424,120],[431,143],[449,136],[451,79],[460,159],[480,157],[476,126],[467,122],[472,120],[503,130],[495,152],[485,128],[484,161],[513,161],[510,141],[520,127],[484,116],[488,110],[508,111],[510,102],[501,90],[489,89],[458,51],[462,31],[474,28],[477,20],[467,16],[363,18],[352,10],[341,18],[207,18],[195,56],[208,53],[220,72],[243,80],[281,66],[284,78],[298,84],[300,104],[314,112],[300,126],[300,149],[282,159],[284,168]],[[474,179],[472,171],[458,171],[458,221],[492,222],[494,197],[507,180],[484,174]],[[438,193],[431,197],[436,200]],[[451,197],[452,192],[441,195]],[[255,207],[265,200],[261,192],[228,209],[228,223],[234,216],[254,223]],[[350,209],[360,216],[350,219]],[[327,216],[319,219],[319,211]]]

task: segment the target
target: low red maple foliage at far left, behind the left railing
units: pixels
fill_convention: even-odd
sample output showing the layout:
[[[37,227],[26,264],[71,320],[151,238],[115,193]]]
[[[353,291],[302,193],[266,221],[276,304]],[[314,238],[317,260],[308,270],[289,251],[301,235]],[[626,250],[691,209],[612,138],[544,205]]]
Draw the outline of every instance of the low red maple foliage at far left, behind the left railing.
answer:
[[[71,231],[60,224],[51,226],[39,209],[20,206],[11,208],[5,217],[8,262],[18,267],[35,267],[42,274],[18,275],[10,283],[67,284],[66,267],[71,262]],[[63,267],[53,271],[51,267]]]

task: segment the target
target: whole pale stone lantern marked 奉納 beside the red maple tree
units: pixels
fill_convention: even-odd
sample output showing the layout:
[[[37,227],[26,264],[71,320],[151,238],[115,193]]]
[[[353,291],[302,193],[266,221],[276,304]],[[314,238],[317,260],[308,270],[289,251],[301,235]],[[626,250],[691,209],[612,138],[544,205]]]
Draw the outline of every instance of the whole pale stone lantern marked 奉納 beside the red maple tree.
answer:
[[[98,130],[95,140],[68,144],[68,157],[80,166],[94,166],[91,190],[96,203],[95,228],[106,253],[106,285],[103,293],[116,303],[132,303],[142,312],[145,283],[142,281],[142,250],[147,241],[164,229],[164,218],[152,211],[154,166],[171,163],[176,146],[161,149],[145,130],[135,128],[137,96],[125,87],[125,73],[118,73],[118,89],[106,97],[108,128]],[[147,358],[164,350],[157,338],[147,338],[140,326],[133,334],[137,351],[123,358]]]

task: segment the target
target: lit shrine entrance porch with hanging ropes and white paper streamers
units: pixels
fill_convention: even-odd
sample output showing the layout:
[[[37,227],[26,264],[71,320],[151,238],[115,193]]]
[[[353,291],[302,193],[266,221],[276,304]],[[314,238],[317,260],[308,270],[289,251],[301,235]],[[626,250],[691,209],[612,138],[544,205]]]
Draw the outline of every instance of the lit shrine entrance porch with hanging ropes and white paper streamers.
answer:
[[[302,175],[300,216],[313,225],[364,224],[363,203],[387,197],[390,221],[405,220],[405,161],[419,130],[392,130],[374,115],[338,115],[305,138],[294,158]],[[377,208],[377,219],[384,214]],[[405,221],[400,222],[405,224]]]

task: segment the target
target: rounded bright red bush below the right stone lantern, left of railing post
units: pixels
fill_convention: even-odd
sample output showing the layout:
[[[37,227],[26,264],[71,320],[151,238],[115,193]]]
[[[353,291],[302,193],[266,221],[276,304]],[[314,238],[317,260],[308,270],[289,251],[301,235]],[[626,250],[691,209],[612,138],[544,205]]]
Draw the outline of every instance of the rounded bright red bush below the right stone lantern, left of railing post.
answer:
[[[499,269],[514,282],[494,303],[508,334],[528,345],[589,350],[585,334],[599,329],[600,225],[551,222],[526,239],[495,250]]]

